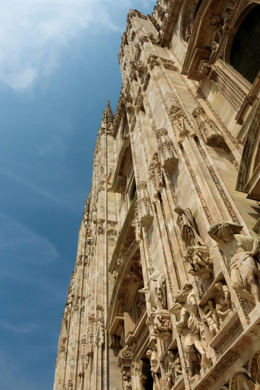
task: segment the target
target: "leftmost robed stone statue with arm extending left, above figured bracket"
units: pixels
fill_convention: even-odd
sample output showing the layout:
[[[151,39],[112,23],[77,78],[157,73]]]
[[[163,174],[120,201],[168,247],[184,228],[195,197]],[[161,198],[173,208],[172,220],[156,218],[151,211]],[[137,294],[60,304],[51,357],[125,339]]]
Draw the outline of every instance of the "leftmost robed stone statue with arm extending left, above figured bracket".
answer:
[[[160,271],[155,271],[152,266],[148,267],[150,277],[147,286],[139,292],[148,294],[148,302],[154,309],[166,309],[165,276]]]

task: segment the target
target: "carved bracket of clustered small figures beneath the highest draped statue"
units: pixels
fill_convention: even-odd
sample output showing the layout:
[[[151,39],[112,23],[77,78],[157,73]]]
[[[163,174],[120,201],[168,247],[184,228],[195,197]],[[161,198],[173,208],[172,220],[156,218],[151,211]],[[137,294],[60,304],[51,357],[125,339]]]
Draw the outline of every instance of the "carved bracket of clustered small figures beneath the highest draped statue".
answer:
[[[182,261],[191,275],[205,280],[210,278],[213,261],[209,257],[208,248],[199,245],[188,247],[187,254]]]

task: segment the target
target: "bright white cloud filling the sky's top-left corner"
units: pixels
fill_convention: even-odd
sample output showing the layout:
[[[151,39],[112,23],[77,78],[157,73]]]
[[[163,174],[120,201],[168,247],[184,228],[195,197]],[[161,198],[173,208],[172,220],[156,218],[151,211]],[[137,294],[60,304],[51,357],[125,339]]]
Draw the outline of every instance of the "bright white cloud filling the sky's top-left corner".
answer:
[[[115,7],[119,0],[0,1],[0,81],[17,92],[32,92],[82,30],[118,30],[108,2]]]

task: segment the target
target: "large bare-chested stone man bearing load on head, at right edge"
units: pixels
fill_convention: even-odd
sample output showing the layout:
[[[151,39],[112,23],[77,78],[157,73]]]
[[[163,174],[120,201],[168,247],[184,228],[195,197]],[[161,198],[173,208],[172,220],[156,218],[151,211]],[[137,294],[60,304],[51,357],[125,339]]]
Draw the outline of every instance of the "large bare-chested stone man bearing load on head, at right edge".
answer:
[[[226,256],[231,270],[231,283],[235,291],[249,302],[251,309],[260,303],[260,264],[254,259],[260,250],[260,240],[233,230],[240,225],[222,221],[212,225],[208,231]]]

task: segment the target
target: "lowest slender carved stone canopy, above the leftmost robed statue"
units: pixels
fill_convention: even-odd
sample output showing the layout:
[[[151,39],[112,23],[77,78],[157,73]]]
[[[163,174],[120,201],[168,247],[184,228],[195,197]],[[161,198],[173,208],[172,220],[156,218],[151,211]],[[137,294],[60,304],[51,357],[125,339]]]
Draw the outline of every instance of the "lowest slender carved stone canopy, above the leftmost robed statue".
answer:
[[[153,220],[153,215],[151,212],[150,197],[147,190],[146,181],[139,181],[137,183],[138,191],[138,211],[139,211],[139,221],[142,226],[149,227]]]

